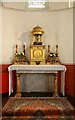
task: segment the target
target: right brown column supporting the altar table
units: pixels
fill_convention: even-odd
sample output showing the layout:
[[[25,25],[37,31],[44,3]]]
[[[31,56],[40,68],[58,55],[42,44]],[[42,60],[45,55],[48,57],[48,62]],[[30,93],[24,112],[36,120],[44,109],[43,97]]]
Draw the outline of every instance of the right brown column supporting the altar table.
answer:
[[[58,72],[54,74],[54,93],[53,97],[58,97]]]

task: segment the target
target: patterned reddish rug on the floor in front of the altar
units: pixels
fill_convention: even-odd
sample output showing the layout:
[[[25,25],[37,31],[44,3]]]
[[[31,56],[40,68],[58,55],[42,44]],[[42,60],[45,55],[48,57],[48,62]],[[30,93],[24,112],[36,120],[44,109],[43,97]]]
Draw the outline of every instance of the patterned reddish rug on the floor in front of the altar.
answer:
[[[74,112],[65,97],[10,97],[2,120],[74,120]]]

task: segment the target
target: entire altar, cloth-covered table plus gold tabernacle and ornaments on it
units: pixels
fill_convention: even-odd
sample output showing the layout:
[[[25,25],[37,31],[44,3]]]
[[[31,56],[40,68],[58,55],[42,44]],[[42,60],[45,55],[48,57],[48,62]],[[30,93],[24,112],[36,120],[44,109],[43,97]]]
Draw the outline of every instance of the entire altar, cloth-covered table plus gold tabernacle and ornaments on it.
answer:
[[[43,29],[36,26],[32,30],[32,43],[30,44],[30,60],[26,57],[26,46],[23,45],[23,51],[19,52],[16,45],[13,65],[8,67],[9,70],[9,95],[13,92],[12,71],[16,71],[16,95],[21,97],[20,76],[25,73],[48,73],[54,74],[54,91],[53,96],[58,96],[58,72],[61,71],[61,93],[65,96],[65,71],[66,67],[60,64],[58,56],[58,45],[55,52],[50,51],[50,45],[46,53],[46,45],[42,43]],[[38,82],[38,81],[36,81]]]

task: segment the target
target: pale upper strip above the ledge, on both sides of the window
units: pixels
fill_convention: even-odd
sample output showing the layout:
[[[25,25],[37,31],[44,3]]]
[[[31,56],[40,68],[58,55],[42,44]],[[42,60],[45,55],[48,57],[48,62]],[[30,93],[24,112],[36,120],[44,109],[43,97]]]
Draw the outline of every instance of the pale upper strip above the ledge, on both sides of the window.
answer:
[[[47,2],[48,3],[48,2]],[[26,6],[26,2],[3,2],[4,8],[29,10]],[[73,3],[70,2],[70,8],[73,7]],[[69,2],[49,2],[47,10],[59,10],[69,8]]]

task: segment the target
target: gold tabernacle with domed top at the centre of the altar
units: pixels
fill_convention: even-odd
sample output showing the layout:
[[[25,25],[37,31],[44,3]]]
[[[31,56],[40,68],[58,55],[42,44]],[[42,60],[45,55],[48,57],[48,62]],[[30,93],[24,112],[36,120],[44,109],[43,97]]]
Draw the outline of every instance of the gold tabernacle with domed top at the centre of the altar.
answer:
[[[45,45],[42,45],[43,33],[43,29],[38,25],[32,30],[33,40],[30,46],[30,64],[45,64]]]

